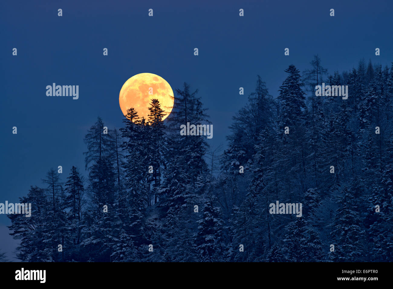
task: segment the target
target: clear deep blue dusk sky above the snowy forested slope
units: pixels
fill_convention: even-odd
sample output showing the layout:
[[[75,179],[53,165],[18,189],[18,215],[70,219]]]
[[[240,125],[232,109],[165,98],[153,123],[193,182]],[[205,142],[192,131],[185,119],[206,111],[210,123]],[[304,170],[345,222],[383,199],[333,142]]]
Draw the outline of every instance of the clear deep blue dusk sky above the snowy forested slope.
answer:
[[[0,203],[18,202],[30,185],[41,186],[51,167],[62,165],[63,180],[72,165],[86,174],[86,130],[98,115],[109,128],[122,126],[119,91],[135,74],[158,74],[173,90],[183,82],[198,88],[215,148],[225,143],[257,74],[276,97],[288,65],[303,71],[317,53],[329,73],[357,67],[361,58],[383,66],[393,60],[391,1],[134,2],[0,4]],[[79,85],[79,99],[46,96],[52,82]],[[15,246],[9,224],[0,215],[0,250],[7,252]]]

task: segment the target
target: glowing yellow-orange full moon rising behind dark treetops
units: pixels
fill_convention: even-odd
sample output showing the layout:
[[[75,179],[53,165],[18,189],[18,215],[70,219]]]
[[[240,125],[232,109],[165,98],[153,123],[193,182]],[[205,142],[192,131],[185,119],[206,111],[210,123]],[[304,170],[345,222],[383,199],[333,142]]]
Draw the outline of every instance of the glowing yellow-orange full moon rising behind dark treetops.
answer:
[[[153,73],[139,73],[128,79],[121,87],[119,104],[123,115],[129,108],[134,108],[140,118],[149,118],[149,107],[152,99],[158,99],[161,109],[167,118],[173,108],[173,90],[169,83]]]

